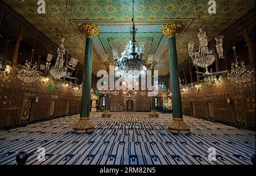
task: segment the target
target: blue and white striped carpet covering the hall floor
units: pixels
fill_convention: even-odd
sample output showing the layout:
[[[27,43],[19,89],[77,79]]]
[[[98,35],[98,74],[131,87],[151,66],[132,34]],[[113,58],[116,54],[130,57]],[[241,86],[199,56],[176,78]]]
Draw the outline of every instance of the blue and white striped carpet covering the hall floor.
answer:
[[[146,113],[113,113],[102,118],[91,113],[93,134],[73,134],[79,115],[0,131],[0,164],[16,164],[18,152],[27,151],[27,164],[57,165],[248,165],[255,153],[255,132],[184,116],[189,136],[167,130],[171,114],[148,118]],[[38,161],[38,148],[46,160]],[[216,161],[208,149],[216,149]]]

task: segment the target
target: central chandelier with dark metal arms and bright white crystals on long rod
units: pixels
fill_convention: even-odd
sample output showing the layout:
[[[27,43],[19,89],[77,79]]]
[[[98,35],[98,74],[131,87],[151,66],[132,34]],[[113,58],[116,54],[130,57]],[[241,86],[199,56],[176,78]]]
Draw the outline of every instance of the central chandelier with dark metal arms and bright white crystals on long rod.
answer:
[[[118,57],[117,49],[112,50],[113,58],[115,61],[115,72],[117,76],[122,76],[123,79],[127,78],[133,78],[137,79],[139,76],[144,76],[146,74],[147,68],[150,67],[152,61],[153,55],[148,55],[148,63],[143,59],[144,49],[145,49],[145,43],[140,42],[139,43],[139,51],[138,47],[135,45],[135,35],[137,33],[137,28],[135,28],[134,24],[134,1],[133,1],[133,18],[131,19],[133,22],[133,31],[131,31],[131,35],[133,37],[133,40],[127,42],[127,45],[125,46],[125,50],[122,52],[122,57]],[[129,71],[137,71],[135,74],[129,73]]]

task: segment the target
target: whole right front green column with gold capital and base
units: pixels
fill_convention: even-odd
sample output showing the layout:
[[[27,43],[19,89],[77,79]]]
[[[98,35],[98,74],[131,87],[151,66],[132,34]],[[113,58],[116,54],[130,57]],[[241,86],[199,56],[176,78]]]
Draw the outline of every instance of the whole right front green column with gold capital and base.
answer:
[[[183,121],[180,83],[177,65],[176,38],[177,31],[182,27],[180,23],[174,22],[164,25],[162,33],[168,37],[170,78],[172,92],[172,120],[168,125],[173,134],[189,134],[190,127]]]

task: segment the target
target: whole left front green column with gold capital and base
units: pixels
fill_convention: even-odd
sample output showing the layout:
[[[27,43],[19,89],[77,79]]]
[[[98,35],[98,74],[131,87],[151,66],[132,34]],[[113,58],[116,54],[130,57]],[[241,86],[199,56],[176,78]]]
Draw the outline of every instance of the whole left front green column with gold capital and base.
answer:
[[[95,125],[90,121],[90,90],[92,82],[93,37],[97,36],[99,33],[98,27],[95,24],[82,24],[80,30],[86,35],[86,44],[80,120],[73,126],[73,130],[77,134],[90,133],[94,131]]]

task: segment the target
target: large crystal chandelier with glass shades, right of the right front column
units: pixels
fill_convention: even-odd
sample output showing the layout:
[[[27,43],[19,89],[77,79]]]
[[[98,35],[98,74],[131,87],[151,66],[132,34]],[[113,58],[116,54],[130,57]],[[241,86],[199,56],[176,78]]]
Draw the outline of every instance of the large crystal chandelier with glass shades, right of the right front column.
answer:
[[[196,11],[198,14],[198,18],[200,20],[197,3],[196,3]],[[201,26],[201,23],[200,23]],[[199,29],[198,33],[199,38],[199,50],[193,53],[194,42],[188,43],[188,54],[191,57],[193,64],[202,68],[207,68],[212,65],[212,63],[216,60],[217,56],[213,53],[213,50],[208,49],[208,37],[203,29]],[[223,36],[217,36],[214,39],[216,40],[216,50],[218,53],[218,58],[223,59],[223,48],[222,48],[222,38]],[[208,72],[208,71],[207,71]]]

